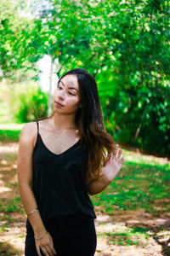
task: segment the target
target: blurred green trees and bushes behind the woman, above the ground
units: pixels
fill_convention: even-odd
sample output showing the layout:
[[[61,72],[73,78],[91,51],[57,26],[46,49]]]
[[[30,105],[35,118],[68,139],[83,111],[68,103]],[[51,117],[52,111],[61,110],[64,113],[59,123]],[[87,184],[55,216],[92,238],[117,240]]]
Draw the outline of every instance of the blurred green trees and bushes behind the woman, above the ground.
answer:
[[[59,77],[82,67],[116,142],[169,155],[168,1],[1,0],[0,9],[1,124],[48,116]]]

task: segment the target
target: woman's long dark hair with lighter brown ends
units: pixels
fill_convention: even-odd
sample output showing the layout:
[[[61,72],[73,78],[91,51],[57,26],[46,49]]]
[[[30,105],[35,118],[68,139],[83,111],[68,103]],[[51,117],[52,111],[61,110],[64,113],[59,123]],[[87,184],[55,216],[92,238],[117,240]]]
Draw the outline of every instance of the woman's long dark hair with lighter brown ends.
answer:
[[[88,148],[87,177],[88,179],[99,177],[101,166],[105,166],[111,154],[114,154],[115,143],[111,135],[105,131],[94,77],[85,69],[76,68],[62,75],[59,81],[68,74],[75,74],[79,84],[82,108],[77,110],[76,122],[81,142]]]

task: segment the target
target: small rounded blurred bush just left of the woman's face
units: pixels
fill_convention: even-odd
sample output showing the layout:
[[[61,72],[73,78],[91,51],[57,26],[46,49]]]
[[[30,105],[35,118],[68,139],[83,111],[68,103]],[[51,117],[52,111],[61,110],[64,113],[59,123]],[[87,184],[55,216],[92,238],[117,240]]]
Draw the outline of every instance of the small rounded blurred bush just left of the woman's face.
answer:
[[[10,113],[19,122],[47,117],[48,95],[37,84],[13,86],[10,92]]]

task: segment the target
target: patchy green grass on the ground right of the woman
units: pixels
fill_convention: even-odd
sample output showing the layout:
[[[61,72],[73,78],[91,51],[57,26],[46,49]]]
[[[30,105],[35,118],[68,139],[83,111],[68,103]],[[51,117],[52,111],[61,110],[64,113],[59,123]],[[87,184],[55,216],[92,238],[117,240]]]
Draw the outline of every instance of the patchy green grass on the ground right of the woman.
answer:
[[[116,212],[126,216],[128,211],[131,212],[133,219],[135,211],[138,210],[149,213],[150,218],[153,219],[163,218],[164,213],[166,216],[170,212],[169,162],[151,155],[133,154],[126,150],[124,154],[125,161],[119,175],[103,192],[91,196],[94,207],[97,207],[99,212],[106,212],[113,219]],[[153,237],[157,237],[159,243],[161,231],[165,241],[168,240],[169,224],[153,227],[148,224],[142,225],[142,221],[131,224],[130,227],[113,224],[111,231],[101,232],[99,236],[107,236],[110,246],[122,247],[147,247],[148,244],[153,243]],[[160,244],[165,255],[169,255],[170,248],[164,243],[160,242]]]

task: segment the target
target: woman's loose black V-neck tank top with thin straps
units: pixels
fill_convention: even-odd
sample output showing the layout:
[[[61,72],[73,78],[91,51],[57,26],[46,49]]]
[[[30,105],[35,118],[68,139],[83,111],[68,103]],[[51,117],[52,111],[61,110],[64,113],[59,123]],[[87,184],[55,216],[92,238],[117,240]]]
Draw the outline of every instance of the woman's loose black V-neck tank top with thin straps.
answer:
[[[86,189],[88,152],[80,140],[61,154],[42,141],[37,122],[37,142],[32,154],[32,190],[45,223],[51,218],[86,214],[96,218]],[[26,226],[30,222],[27,218]]]

